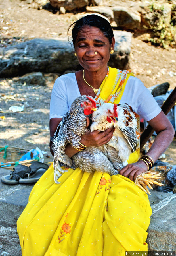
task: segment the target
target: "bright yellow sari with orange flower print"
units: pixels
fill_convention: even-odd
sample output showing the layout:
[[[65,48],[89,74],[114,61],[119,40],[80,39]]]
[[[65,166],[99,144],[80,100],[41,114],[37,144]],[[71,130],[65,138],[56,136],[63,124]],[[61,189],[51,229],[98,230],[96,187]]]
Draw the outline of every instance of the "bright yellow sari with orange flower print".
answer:
[[[119,103],[130,71],[109,68],[96,96]],[[129,162],[138,160],[138,154]],[[148,196],[121,175],[68,169],[55,184],[53,164],[33,187],[17,221],[22,255],[106,256],[147,251]]]

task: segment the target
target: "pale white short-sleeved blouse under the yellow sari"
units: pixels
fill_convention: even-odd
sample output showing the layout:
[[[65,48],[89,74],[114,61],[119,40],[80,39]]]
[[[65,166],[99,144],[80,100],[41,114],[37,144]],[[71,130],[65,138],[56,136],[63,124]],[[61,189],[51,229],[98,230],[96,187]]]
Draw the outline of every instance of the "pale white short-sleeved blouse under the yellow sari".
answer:
[[[75,73],[58,77],[54,83],[50,101],[50,119],[62,118],[72,102],[81,96]],[[136,77],[130,76],[120,104],[127,103],[146,121],[156,117],[161,108],[144,84]]]

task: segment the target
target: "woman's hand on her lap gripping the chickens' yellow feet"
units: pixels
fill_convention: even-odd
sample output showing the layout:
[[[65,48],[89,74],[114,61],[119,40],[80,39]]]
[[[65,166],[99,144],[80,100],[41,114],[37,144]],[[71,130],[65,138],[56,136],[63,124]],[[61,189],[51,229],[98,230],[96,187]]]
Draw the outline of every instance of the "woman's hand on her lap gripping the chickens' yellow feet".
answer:
[[[137,176],[142,172],[147,172],[148,167],[143,160],[139,160],[133,164],[127,164],[123,167],[119,174],[123,175],[135,182]]]

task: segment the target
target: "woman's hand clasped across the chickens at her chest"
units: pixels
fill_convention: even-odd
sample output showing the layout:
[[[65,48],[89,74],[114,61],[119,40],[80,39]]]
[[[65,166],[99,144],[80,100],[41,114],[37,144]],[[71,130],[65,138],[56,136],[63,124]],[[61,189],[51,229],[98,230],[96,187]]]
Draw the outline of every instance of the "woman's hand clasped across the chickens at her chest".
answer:
[[[85,133],[85,135],[81,135],[81,143],[87,147],[98,147],[98,146],[102,146],[106,143],[108,143],[108,141],[110,141],[110,139],[113,136],[113,132],[114,132],[115,128],[108,128],[105,131],[88,131]]]

